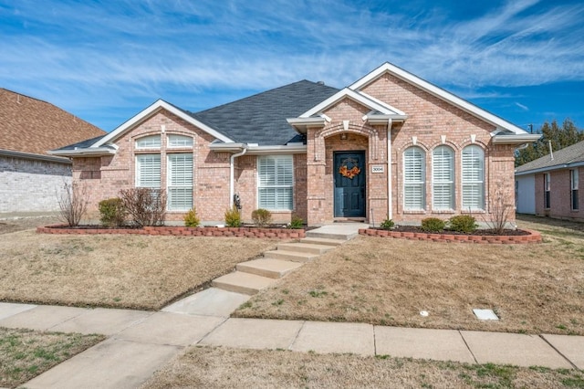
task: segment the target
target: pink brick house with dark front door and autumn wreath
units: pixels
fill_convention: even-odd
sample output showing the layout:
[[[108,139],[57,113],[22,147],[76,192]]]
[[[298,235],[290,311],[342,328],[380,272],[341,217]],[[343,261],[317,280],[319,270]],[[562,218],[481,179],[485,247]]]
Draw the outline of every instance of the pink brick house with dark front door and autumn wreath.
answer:
[[[163,100],[118,129],[52,153],[73,159],[91,206],[122,188],[168,191],[168,218],[217,222],[239,195],[278,222],[471,212],[513,195],[514,150],[532,135],[389,63],[345,89],[299,81],[192,113]],[[512,198],[512,197],[511,197]],[[510,220],[514,220],[512,216]]]

